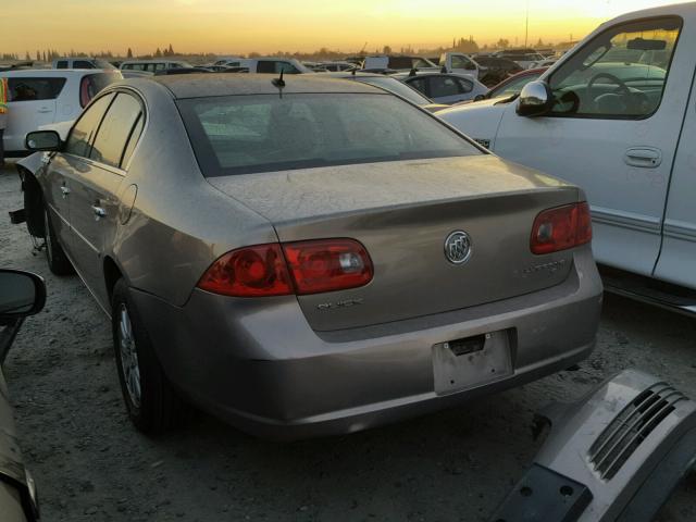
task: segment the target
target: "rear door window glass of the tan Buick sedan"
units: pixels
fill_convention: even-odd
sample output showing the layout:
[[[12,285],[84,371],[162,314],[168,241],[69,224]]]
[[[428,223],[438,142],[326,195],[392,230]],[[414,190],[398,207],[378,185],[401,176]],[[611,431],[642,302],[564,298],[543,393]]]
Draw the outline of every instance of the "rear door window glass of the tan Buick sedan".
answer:
[[[105,165],[121,166],[126,144],[141,112],[137,99],[119,92],[99,126],[89,158]]]

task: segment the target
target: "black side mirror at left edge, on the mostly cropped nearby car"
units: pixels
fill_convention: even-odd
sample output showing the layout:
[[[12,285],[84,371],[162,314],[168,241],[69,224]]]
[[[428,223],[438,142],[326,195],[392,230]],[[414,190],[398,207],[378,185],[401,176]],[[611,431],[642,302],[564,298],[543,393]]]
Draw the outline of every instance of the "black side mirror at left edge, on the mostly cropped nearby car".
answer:
[[[0,323],[40,312],[46,304],[44,278],[30,272],[0,270]]]

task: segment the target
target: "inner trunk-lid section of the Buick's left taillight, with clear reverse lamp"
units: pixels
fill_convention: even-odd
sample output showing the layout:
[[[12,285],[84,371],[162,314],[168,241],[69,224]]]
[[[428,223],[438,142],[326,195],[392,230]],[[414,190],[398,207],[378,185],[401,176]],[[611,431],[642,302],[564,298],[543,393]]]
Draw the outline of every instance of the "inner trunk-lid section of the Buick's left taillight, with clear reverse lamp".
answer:
[[[372,279],[372,261],[353,239],[286,243],[285,259],[298,295],[344,290]]]

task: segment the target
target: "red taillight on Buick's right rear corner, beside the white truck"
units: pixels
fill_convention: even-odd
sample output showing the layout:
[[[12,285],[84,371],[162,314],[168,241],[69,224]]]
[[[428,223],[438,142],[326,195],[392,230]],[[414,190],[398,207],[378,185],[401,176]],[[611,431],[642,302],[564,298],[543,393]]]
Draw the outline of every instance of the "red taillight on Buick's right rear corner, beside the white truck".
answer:
[[[545,210],[534,220],[533,253],[551,253],[592,240],[592,217],[586,202]]]

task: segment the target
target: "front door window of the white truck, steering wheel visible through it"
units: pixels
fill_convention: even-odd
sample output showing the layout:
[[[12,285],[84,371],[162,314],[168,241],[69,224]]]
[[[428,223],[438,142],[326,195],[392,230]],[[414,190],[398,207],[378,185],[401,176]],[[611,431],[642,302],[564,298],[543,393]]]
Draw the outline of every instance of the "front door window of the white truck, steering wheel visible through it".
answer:
[[[647,117],[657,111],[682,27],[674,16],[609,28],[549,79],[551,114]]]

